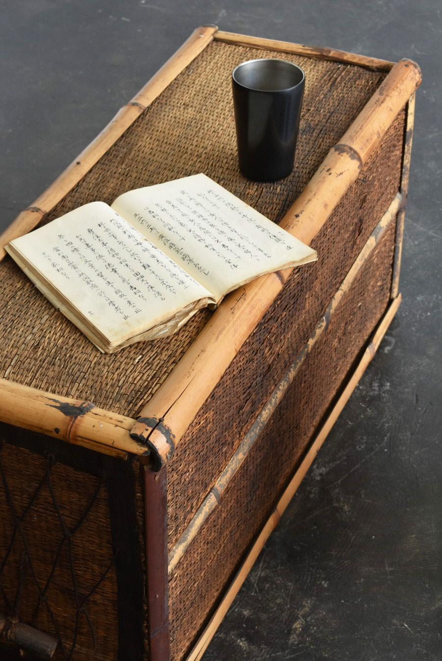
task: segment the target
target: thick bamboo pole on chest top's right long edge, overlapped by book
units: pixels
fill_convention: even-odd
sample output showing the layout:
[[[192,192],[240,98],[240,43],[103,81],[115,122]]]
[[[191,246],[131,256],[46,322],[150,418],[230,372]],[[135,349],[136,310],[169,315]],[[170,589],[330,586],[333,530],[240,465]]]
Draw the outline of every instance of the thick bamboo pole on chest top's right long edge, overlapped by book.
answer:
[[[281,227],[304,243],[311,243],[420,81],[416,63],[400,60],[392,67],[340,142],[330,149],[285,214]],[[262,276],[227,296],[161,388],[142,408],[131,434],[149,445],[155,457],[155,469],[161,469],[170,459],[203,402],[272,305],[292,270]]]

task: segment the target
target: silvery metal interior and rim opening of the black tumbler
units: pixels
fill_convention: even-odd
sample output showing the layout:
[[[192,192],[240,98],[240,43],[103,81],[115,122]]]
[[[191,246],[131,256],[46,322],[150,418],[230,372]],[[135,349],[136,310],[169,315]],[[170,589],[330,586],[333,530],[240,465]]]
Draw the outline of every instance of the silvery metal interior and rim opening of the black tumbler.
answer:
[[[247,89],[279,92],[296,87],[304,80],[304,71],[284,59],[250,59],[233,69],[235,82]]]

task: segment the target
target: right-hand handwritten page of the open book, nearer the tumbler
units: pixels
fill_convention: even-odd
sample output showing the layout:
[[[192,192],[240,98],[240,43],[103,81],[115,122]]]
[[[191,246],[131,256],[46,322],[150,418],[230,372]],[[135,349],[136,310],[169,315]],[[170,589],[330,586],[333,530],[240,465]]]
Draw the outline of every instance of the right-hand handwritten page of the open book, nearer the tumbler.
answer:
[[[217,301],[241,284],[316,253],[208,176],[124,193],[112,204]]]

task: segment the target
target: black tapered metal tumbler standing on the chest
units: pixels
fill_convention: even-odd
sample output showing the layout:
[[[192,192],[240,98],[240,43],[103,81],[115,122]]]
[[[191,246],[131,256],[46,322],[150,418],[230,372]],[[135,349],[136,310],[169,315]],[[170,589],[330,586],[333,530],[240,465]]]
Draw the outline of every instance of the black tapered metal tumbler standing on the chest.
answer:
[[[250,59],[232,72],[239,169],[277,181],[295,164],[305,75],[283,59]]]

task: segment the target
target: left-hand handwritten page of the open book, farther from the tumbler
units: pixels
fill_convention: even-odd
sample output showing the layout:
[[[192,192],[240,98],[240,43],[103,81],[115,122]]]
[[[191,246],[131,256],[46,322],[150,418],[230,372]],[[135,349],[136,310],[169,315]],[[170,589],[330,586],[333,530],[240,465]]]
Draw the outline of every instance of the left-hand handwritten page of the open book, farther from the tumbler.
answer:
[[[213,301],[103,202],[69,212],[11,241],[7,249],[109,344],[165,323],[182,309],[189,315],[199,299],[204,305]]]

